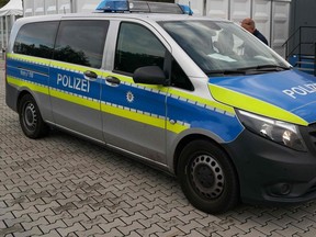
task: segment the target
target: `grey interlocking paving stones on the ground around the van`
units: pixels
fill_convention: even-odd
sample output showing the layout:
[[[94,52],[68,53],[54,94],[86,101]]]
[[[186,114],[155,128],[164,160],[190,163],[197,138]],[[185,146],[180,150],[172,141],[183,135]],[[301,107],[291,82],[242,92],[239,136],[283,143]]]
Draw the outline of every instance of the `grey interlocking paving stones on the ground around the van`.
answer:
[[[0,236],[316,236],[316,202],[192,207],[173,178],[65,133],[32,140],[0,71]]]

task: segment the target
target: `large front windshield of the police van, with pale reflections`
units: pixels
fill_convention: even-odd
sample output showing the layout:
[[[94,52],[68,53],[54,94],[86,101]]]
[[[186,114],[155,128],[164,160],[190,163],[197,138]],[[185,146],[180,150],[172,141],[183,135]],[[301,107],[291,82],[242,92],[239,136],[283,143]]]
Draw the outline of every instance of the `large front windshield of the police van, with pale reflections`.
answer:
[[[281,56],[232,22],[196,20],[159,24],[208,76],[289,69]]]

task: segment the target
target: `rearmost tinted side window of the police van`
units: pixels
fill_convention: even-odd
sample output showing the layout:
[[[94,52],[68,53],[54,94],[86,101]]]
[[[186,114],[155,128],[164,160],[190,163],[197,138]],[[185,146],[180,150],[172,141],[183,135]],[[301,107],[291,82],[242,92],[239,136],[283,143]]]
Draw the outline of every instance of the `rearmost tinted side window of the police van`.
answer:
[[[52,58],[58,22],[29,23],[21,27],[13,45],[16,54]]]

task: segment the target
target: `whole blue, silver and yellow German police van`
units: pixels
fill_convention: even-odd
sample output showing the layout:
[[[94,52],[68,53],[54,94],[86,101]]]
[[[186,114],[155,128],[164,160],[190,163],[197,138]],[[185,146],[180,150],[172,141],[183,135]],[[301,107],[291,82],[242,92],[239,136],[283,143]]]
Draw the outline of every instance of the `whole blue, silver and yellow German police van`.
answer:
[[[57,127],[122,151],[206,213],[316,198],[315,77],[233,22],[104,2],[15,22],[5,99],[27,137]]]

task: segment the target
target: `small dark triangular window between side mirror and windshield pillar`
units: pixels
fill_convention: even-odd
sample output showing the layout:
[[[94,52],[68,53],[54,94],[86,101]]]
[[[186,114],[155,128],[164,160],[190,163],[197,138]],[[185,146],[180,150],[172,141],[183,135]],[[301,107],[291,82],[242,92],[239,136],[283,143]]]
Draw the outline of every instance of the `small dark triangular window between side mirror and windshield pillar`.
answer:
[[[171,67],[171,86],[182,88],[185,90],[194,89],[190,79],[174,59],[172,60],[172,67]]]

